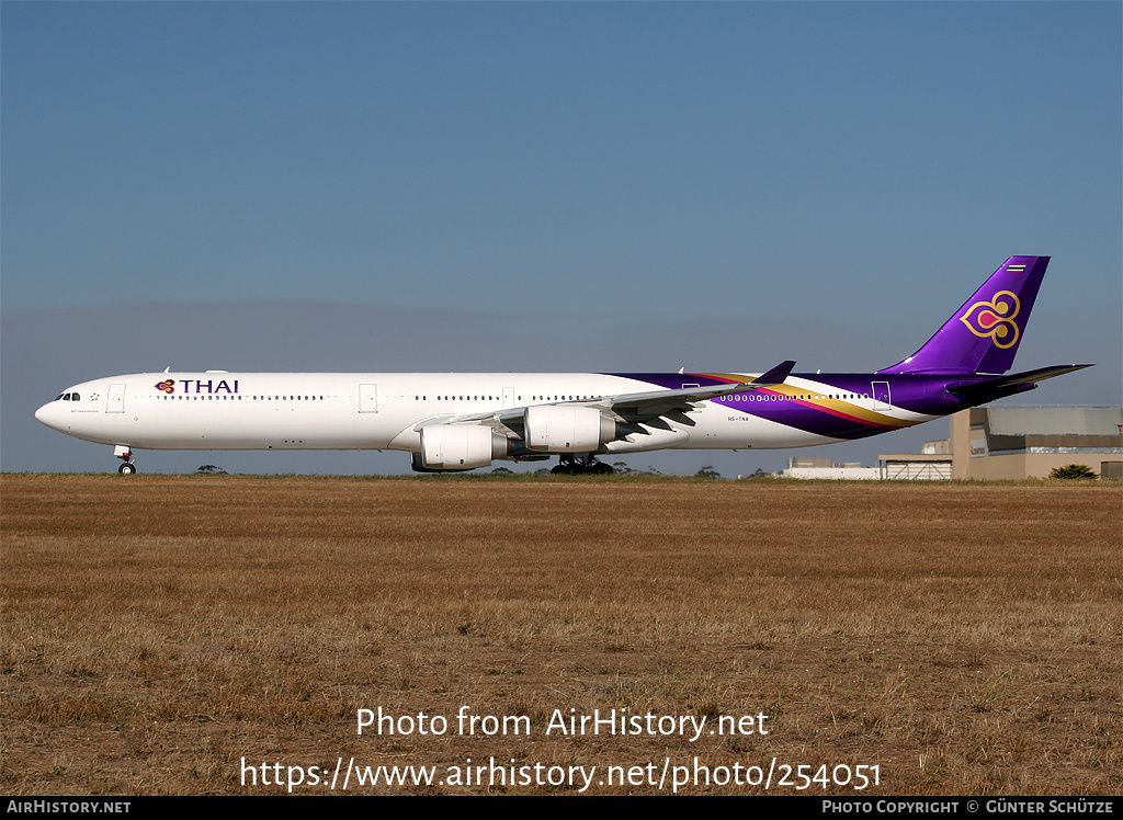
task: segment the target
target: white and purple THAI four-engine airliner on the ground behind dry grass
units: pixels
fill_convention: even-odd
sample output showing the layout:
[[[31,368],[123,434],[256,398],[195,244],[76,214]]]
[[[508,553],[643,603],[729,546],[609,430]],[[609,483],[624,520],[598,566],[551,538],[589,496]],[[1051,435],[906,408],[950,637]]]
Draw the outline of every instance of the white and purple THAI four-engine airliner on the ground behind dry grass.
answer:
[[[1012,373],[1049,265],[1011,256],[916,353],[873,373],[139,373],[67,388],[35,417],[138,449],[354,449],[411,454],[418,472],[557,457],[772,449],[900,430],[1037,388],[1087,364]]]

